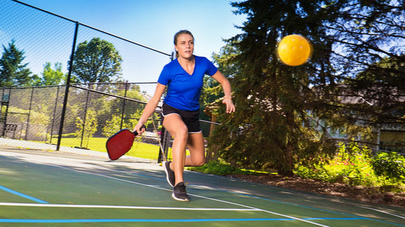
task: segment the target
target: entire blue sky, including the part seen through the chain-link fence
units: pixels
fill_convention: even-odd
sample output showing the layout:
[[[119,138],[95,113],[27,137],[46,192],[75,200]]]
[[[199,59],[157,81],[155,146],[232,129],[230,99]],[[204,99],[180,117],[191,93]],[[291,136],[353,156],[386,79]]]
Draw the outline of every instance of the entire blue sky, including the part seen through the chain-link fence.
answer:
[[[232,38],[246,19],[235,15],[229,1],[162,0],[20,0],[30,6],[80,22],[170,54],[173,36],[181,29],[191,31],[196,39],[194,54],[211,59]],[[34,10],[12,0],[0,0],[0,45],[15,40],[24,52],[24,61],[33,74],[42,75],[45,63],[61,63],[67,73],[75,23]],[[156,82],[163,65],[170,61],[164,54],[124,42],[104,33],[79,27],[78,40],[101,38],[111,42],[123,61],[121,77],[132,83]],[[142,84],[141,91],[152,94],[156,84]]]

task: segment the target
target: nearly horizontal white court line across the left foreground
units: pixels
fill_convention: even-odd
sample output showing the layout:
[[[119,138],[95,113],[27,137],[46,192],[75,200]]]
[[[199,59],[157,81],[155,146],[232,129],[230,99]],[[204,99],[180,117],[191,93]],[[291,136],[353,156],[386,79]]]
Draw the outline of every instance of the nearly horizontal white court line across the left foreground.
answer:
[[[136,209],[136,210],[207,210],[207,211],[260,211],[252,209],[233,208],[166,208],[142,207],[132,205],[80,205],[80,204],[45,204],[45,203],[0,203],[0,206],[40,207],[40,208],[109,208],[109,209]]]

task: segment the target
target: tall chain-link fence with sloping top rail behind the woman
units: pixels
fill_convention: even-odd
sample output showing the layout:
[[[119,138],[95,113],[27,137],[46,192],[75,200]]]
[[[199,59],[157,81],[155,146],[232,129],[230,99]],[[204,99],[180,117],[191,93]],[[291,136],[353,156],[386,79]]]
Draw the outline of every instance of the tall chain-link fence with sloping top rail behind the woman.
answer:
[[[0,86],[0,143],[46,150],[105,152],[108,136],[134,127],[163,65],[172,59],[171,54],[12,0],[0,0],[0,43],[3,56],[22,56],[15,75],[0,72],[1,81],[14,83]],[[100,45],[112,51],[103,54]],[[15,87],[22,77],[31,86],[26,79],[24,86]],[[117,82],[100,82],[103,77]],[[129,153],[159,162],[159,136],[168,157],[171,136],[161,127],[159,108],[152,118]],[[202,121],[202,130],[208,136],[210,123]]]

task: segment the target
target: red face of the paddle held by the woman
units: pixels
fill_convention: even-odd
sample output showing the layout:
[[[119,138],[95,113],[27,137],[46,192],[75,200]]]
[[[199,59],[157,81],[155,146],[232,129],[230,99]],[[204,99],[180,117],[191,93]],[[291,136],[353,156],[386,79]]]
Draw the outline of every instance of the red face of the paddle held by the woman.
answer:
[[[135,132],[136,133],[136,132]],[[108,156],[112,160],[119,159],[131,149],[135,134],[128,129],[120,130],[107,141]]]

